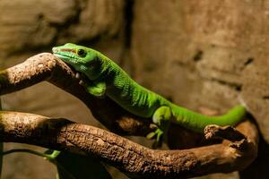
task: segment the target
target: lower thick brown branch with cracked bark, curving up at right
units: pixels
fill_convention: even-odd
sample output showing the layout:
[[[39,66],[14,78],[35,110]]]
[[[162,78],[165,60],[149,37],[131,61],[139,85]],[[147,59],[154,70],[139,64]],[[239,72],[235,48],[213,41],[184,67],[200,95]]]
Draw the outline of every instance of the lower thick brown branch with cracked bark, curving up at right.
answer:
[[[137,178],[186,178],[231,172],[248,166],[257,152],[256,126],[249,121],[239,124],[239,129],[247,136],[247,140],[242,138],[246,140],[243,149],[230,147],[232,142],[223,142],[195,149],[153,150],[114,133],[65,119],[15,112],[1,112],[0,116],[1,141],[83,152]],[[218,129],[218,126],[213,128]],[[236,140],[232,134],[230,138],[232,141],[242,140],[237,134]]]

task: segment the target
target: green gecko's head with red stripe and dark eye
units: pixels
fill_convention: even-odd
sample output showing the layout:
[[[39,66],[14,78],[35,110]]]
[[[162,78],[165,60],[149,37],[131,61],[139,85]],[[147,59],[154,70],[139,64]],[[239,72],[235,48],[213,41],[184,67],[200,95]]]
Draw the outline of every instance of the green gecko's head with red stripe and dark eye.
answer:
[[[78,72],[86,72],[96,59],[94,50],[88,47],[67,43],[64,46],[53,47],[52,52],[66,64]]]

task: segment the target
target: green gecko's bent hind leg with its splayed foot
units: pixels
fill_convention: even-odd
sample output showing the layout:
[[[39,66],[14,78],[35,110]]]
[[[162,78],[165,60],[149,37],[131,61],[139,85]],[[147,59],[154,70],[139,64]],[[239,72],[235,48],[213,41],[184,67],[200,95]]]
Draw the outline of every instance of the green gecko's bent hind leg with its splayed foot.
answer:
[[[152,139],[153,137],[156,137],[155,144],[157,146],[161,145],[162,137],[164,138],[164,141],[166,141],[171,117],[172,117],[171,109],[170,107],[166,106],[159,107],[152,115],[152,122],[154,124],[157,124],[158,128],[156,129],[155,132],[150,132],[147,135],[147,138]]]

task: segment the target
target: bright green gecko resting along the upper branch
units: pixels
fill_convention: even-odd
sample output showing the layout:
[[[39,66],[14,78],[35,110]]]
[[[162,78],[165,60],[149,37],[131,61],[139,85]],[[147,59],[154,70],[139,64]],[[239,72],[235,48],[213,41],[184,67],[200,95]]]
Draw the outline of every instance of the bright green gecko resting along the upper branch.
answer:
[[[67,43],[64,46],[53,47],[52,51],[66,64],[74,67],[75,71],[82,73],[85,89],[91,95],[99,98],[107,95],[128,112],[152,118],[152,122],[158,128],[147,137],[156,137],[157,142],[161,140],[162,135],[166,137],[170,122],[194,132],[204,132],[204,127],[208,124],[234,126],[247,113],[245,107],[236,106],[225,115],[201,115],[178,107],[161,95],[143,88],[107,56],[94,49]]]

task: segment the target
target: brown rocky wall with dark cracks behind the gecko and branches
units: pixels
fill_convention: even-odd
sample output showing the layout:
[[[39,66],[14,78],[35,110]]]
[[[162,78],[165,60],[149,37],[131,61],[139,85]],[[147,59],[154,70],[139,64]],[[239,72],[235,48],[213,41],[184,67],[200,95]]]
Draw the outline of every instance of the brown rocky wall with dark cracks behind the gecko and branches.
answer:
[[[0,68],[73,42],[100,50],[143,86],[183,107],[225,112],[245,103],[262,139],[259,157],[241,176],[268,178],[268,30],[269,0],[2,0]],[[5,95],[2,102],[4,110],[102,127],[78,99],[46,82]],[[5,144],[22,147],[34,148]],[[4,158],[4,179],[46,179],[55,172],[28,154]],[[217,177],[239,173],[207,176]]]

